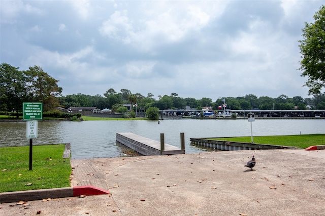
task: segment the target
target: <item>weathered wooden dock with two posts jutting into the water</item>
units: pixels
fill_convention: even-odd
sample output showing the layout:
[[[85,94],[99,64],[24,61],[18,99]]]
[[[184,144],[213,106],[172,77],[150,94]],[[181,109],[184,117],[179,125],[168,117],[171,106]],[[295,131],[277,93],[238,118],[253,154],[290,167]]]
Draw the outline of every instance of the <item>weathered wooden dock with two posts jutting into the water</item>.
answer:
[[[180,149],[178,147],[165,144],[164,142],[161,143],[133,133],[116,133],[116,141],[139,152],[142,155],[185,154],[185,148]],[[163,148],[161,148],[161,144],[163,144]]]

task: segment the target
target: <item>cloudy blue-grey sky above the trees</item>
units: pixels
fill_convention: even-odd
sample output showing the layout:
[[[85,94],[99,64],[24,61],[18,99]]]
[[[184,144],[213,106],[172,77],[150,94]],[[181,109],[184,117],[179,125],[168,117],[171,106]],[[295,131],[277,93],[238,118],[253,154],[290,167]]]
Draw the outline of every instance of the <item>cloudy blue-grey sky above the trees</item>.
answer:
[[[1,0],[0,60],[62,95],[308,96],[299,40],[323,1]]]

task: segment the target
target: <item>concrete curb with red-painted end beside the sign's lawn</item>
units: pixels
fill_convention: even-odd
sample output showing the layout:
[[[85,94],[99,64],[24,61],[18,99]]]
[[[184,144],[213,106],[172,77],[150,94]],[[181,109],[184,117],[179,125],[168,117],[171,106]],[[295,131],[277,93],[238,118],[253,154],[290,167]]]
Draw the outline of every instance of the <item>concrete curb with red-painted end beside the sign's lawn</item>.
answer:
[[[29,191],[15,191],[0,193],[0,203],[19,202],[25,200],[41,200],[48,198],[63,198],[80,195],[92,196],[101,194],[110,194],[110,192],[107,190],[93,187],[91,185]]]

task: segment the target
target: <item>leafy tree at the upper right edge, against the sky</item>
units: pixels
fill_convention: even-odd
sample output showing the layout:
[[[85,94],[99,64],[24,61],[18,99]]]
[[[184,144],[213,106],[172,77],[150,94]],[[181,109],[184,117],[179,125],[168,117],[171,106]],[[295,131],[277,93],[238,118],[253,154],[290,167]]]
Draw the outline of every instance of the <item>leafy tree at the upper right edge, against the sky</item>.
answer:
[[[314,23],[305,23],[302,28],[303,39],[299,40],[302,54],[301,76],[307,76],[305,86],[309,95],[319,94],[325,87],[325,6],[314,15]]]

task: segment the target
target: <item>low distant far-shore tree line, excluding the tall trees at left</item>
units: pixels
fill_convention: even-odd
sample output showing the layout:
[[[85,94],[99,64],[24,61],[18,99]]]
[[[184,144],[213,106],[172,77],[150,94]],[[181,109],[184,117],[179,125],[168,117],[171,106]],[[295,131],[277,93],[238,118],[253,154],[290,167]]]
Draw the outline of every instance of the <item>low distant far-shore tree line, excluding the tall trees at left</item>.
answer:
[[[140,93],[132,94],[131,91],[126,89],[122,89],[119,93],[110,89],[104,93],[104,97],[101,95],[73,94],[59,97],[59,103],[64,108],[93,106],[99,109],[110,108],[112,111],[117,111],[122,104],[135,105],[136,103],[138,110],[147,110],[149,107],[157,107],[159,110],[184,110],[186,107],[195,108],[196,110],[202,110],[204,107],[209,107],[211,110],[222,110],[223,100],[225,99],[226,108],[232,110],[325,110],[325,94],[317,94],[312,98],[305,99],[300,96],[289,98],[280,95],[277,98],[271,98],[248,94],[242,97],[219,98],[214,102],[211,98],[181,98],[176,93],[157,97],[158,99],[154,99],[151,93],[148,93],[145,97]],[[219,108],[220,105],[221,108]],[[134,109],[136,108],[134,107]]]

